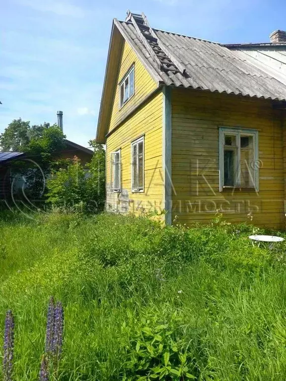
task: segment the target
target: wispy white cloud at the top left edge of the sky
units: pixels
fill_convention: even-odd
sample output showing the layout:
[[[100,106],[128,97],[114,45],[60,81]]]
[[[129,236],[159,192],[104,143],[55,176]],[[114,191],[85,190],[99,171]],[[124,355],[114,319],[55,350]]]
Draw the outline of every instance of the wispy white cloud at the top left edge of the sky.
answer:
[[[73,5],[67,1],[54,0],[18,0],[18,3],[40,12],[52,12],[59,16],[83,17],[84,11],[79,6]]]

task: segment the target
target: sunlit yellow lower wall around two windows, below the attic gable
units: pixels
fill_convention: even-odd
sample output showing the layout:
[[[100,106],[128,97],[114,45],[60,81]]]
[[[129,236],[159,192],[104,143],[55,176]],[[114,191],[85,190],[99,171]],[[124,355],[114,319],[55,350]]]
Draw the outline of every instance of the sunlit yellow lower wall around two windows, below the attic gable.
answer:
[[[159,92],[112,133],[106,142],[106,209],[120,212],[162,210],[162,93]],[[132,192],[131,143],[144,135],[144,192]],[[121,149],[121,192],[111,191],[110,153]]]

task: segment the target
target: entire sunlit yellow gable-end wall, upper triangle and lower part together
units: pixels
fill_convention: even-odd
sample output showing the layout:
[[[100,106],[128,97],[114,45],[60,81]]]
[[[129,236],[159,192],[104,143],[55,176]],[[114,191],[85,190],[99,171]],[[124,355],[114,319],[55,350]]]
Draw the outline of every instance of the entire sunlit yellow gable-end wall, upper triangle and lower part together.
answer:
[[[106,209],[120,212],[144,212],[163,209],[162,178],[162,110],[161,91],[152,92],[157,84],[150,77],[130,45],[125,42],[118,70],[120,82],[135,64],[135,94],[120,109],[119,86],[116,87],[109,133],[106,139]],[[150,96],[133,115],[126,116]],[[118,124],[122,122],[120,126]],[[144,135],[144,192],[132,192],[131,143]],[[111,191],[110,153],[121,149],[121,192]]]

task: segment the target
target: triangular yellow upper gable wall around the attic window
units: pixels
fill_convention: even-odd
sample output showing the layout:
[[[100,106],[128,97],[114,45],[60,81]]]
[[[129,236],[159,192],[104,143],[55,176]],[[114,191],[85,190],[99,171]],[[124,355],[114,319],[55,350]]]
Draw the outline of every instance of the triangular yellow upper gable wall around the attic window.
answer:
[[[135,64],[134,75],[134,88],[135,92],[132,98],[120,108],[120,87],[116,86],[114,102],[111,113],[111,120],[108,131],[111,131],[125,116],[132,110],[132,108],[139,104],[148,94],[156,89],[157,84],[151,78],[149,73],[144,68],[143,64],[138,60],[136,54],[127,42],[123,43],[122,56],[120,60],[117,83],[120,83],[131,68]]]

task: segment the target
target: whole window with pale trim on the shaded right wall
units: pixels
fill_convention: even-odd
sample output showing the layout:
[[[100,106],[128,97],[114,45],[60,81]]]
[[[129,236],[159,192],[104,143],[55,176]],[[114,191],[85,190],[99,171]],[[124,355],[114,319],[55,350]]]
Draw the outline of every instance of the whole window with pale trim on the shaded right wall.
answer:
[[[259,189],[258,131],[219,128],[219,190]]]

